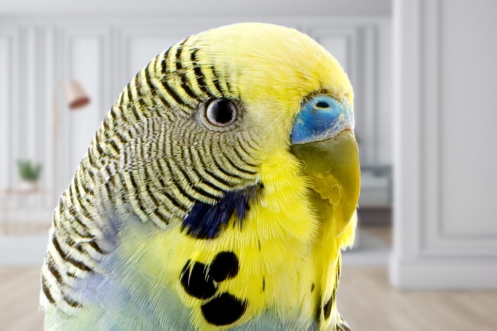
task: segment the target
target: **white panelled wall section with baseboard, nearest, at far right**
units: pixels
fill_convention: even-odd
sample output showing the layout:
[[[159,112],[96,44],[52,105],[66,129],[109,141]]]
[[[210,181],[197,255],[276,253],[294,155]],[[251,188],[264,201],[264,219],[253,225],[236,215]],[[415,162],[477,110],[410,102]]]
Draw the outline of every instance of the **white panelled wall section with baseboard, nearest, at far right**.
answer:
[[[495,10],[489,1],[396,1],[399,286],[497,288]]]

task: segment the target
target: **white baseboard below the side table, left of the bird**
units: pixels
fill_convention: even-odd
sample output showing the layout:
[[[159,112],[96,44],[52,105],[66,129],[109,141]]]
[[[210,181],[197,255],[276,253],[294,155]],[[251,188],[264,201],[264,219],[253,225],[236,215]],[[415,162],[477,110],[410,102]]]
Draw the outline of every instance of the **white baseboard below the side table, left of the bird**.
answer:
[[[0,265],[42,265],[48,234],[0,236]]]

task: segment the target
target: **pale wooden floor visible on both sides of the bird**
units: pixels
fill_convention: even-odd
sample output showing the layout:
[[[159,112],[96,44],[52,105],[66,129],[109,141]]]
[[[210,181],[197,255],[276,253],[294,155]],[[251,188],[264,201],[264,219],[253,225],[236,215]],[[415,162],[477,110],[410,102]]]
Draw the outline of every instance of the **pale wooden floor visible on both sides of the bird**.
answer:
[[[494,331],[497,291],[399,291],[383,267],[343,268],[338,307],[355,331]],[[0,329],[42,330],[39,268],[0,268]]]

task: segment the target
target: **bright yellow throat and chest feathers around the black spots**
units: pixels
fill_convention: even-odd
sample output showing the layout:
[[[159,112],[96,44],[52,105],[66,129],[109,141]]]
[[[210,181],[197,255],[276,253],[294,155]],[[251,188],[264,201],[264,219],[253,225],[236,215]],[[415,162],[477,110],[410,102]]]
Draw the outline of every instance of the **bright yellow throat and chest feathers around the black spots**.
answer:
[[[129,234],[143,243],[138,250],[136,242],[124,241],[129,251],[123,254],[134,255],[138,267],[153,278],[153,283],[175,288],[184,304],[194,308],[192,322],[200,330],[218,329],[199,315],[201,300],[185,295],[177,281],[188,259],[208,264],[221,251],[233,251],[239,257],[240,272],[236,278],[222,282],[220,291],[250,302],[240,324],[266,309],[282,319],[300,316],[302,322],[311,324],[321,305],[320,292],[329,297],[333,290],[339,248],[353,244],[355,214],[345,230],[335,236],[334,220],[318,219],[315,206],[309,201],[307,180],[296,175],[301,173],[301,165],[286,152],[274,155],[271,161],[274,163],[267,169],[261,168],[260,173],[267,183],[265,193],[259,204],[250,209],[242,229],[233,225],[233,217],[225,231],[212,241],[181,235],[179,224],[150,239]],[[160,265],[157,261],[168,264]],[[334,314],[336,306],[331,316]],[[332,317],[321,330],[327,330],[337,318]]]

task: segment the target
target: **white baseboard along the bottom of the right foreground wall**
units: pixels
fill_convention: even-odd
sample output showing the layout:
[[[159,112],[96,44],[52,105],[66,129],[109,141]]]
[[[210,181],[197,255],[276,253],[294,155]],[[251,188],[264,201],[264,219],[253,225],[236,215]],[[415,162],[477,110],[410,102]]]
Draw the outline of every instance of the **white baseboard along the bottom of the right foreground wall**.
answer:
[[[401,289],[497,289],[497,259],[390,257],[390,281]]]

